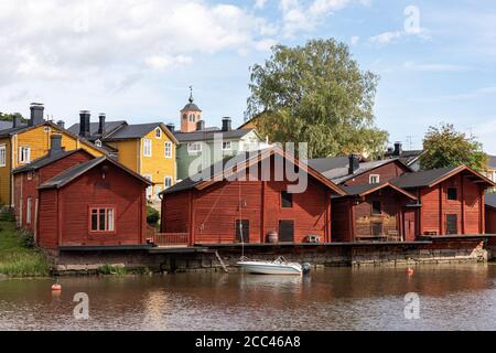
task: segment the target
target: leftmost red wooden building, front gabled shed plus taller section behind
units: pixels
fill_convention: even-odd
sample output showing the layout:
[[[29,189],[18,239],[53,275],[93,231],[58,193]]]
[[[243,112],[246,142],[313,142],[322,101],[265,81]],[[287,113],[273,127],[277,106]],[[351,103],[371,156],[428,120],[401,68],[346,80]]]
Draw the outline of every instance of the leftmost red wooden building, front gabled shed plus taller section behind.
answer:
[[[21,224],[52,250],[144,245],[150,182],[108,157],[85,153],[53,150],[17,171]]]

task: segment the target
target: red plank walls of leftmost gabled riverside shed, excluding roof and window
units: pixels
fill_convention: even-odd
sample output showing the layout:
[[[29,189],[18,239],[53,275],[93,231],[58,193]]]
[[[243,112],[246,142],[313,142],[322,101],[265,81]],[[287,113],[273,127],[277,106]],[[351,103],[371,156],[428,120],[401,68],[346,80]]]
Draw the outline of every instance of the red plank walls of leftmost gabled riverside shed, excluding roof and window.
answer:
[[[139,245],[145,243],[145,185],[114,164],[105,163],[58,190],[42,190],[40,243],[58,246]],[[54,200],[54,193],[58,196]],[[114,234],[89,232],[89,206],[116,208]],[[57,210],[45,212],[47,210]]]

